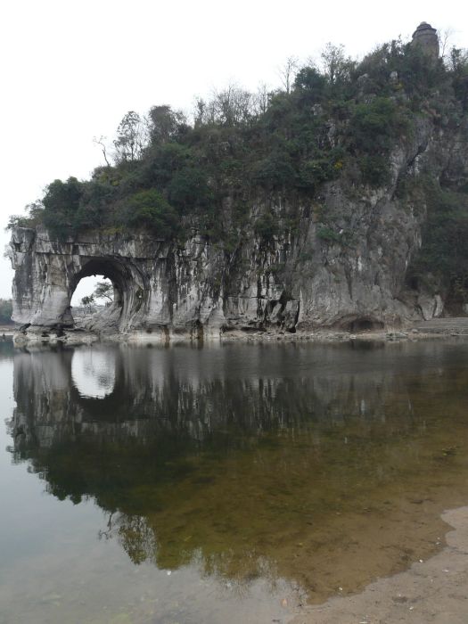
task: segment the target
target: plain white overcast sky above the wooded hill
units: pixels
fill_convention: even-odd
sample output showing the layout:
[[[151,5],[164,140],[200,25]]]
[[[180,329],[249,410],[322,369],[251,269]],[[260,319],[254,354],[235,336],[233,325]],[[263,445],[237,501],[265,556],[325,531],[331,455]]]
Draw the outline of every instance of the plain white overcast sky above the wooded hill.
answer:
[[[45,185],[103,164],[93,137],[111,138],[125,112],[162,103],[191,111],[195,95],[230,81],[278,86],[288,56],[318,57],[328,41],[362,56],[409,38],[421,21],[452,29],[452,43],[468,47],[463,0],[5,0],[1,248],[8,217]],[[11,296],[11,282],[0,257],[0,297]]]

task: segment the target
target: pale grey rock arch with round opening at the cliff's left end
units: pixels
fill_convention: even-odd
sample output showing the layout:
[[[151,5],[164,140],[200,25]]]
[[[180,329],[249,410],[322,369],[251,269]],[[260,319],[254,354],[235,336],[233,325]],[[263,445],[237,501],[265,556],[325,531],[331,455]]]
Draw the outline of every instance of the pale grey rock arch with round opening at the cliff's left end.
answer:
[[[94,330],[125,333],[167,323],[167,302],[156,296],[160,282],[167,279],[165,263],[155,263],[154,250],[135,247],[132,240],[125,244],[115,237],[91,235],[80,242],[57,242],[44,229],[17,228],[10,247],[15,268],[13,320],[40,335],[73,329],[70,300],[79,281],[104,275],[116,296]]]

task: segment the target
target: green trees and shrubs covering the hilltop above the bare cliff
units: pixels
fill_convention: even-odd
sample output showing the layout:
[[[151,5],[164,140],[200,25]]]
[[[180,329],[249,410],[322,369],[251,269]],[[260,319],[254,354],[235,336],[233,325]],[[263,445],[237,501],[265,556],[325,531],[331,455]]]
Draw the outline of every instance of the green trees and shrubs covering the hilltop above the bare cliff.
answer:
[[[320,202],[324,183],[343,177],[355,194],[386,184],[390,152],[411,139],[418,119],[459,124],[468,108],[468,59],[454,49],[433,61],[392,41],[355,62],[327,45],[321,70],[290,60],[283,86],[257,94],[229,86],[196,103],[192,124],[167,105],[144,118],[129,111],[111,150],[97,141],[105,166],[89,180],[54,180],[10,225],[41,223],[60,238],[131,229],[181,241],[196,227],[226,251],[252,229],[271,242],[294,232],[298,210]],[[250,223],[254,203],[264,214]],[[285,203],[279,216],[267,208]],[[319,237],[332,242],[322,217]]]

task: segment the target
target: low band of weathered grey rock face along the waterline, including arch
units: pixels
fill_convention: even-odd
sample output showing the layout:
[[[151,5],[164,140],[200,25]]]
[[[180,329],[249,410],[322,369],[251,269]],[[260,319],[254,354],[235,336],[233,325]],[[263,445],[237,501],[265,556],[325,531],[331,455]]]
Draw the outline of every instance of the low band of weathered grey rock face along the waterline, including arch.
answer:
[[[343,201],[338,188],[329,193],[330,203]],[[117,296],[91,329],[107,333],[198,336],[267,325],[294,331],[298,324],[395,324],[408,313],[397,297],[418,244],[418,219],[382,199],[373,203],[354,218],[357,227],[374,230],[374,240],[363,232],[352,252],[318,239],[309,218],[300,241],[262,249],[252,234],[235,264],[198,236],[181,249],[144,234],[57,242],[43,229],[19,228],[12,233],[13,319],[29,324],[29,332],[72,327],[70,299],[79,280],[105,275]]]

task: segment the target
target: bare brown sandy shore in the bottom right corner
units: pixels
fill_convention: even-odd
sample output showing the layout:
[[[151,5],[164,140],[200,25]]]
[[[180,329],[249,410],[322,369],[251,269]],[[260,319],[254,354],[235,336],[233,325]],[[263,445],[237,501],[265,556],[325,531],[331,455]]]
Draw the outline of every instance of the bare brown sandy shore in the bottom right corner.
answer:
[[[360,594],[304,607],[292,624],[466,624],[468,506],[443,513],[442,520],[454,530],[439,554],[375,581]]]

